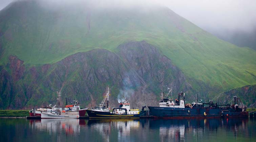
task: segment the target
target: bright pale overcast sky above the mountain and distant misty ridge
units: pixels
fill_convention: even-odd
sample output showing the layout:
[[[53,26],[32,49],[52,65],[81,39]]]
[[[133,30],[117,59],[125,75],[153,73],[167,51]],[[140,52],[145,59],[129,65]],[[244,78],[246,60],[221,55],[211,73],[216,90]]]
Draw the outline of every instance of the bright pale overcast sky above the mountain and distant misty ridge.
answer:
[[[0,9],[14,0],[0,0]],[[53,0],[54,1],[54,0]],[[106,0],[107,1],[107,0]],[[134,1],[129,1],[136,2]],[[256,28],[256,0],[147,0],[165,5],[209,32]]]

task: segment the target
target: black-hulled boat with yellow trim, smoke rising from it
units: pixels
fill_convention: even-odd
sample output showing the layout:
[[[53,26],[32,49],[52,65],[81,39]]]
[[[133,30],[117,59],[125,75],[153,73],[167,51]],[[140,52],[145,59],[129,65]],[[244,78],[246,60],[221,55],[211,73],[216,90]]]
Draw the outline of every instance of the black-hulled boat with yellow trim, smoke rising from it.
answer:
[[[112,112],[110,112],[108,107],[109,95],[108,88],[108,92],[104,96],[100,106],[86,111],[89,118],[140,118],[140,111],[138,109],[130,109],[130,103],[128,101],[120,103],[119,107],[112,108]],[[107,107],[104,106],[105,101]]]

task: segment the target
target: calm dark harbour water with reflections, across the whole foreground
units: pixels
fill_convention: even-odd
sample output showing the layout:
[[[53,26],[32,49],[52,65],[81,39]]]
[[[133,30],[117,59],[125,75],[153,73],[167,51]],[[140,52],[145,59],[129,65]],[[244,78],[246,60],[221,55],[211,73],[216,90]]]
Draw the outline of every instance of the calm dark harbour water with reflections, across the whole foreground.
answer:
[[[256,119],[0,119],[0,141],[256,141]]]

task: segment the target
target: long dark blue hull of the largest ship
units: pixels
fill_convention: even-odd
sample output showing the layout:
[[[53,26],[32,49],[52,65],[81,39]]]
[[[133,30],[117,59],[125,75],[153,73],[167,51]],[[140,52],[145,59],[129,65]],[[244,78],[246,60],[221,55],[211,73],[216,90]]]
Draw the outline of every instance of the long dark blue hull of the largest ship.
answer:
[[[221,117],[248,117],[248,112],[227,112],[221,108],[193,107],[193,108],[170,108],[170,107],[148,107],[149,115],[156,118],[221,118]]]

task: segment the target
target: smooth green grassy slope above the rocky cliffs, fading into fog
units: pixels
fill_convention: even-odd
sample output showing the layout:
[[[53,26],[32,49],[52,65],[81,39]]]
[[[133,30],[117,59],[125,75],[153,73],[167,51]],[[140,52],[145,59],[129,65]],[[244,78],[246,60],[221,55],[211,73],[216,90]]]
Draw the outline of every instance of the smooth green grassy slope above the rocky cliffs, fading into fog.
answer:
[[[142,40],[161,50],[198,90],[198,81],[216,92],[256,82],[255,50],[220,40],[165,7],[19,1],[0,11],[1,65],[10,55],[27,66],[52,64],[77,52],[117,52],[122,43]]]

